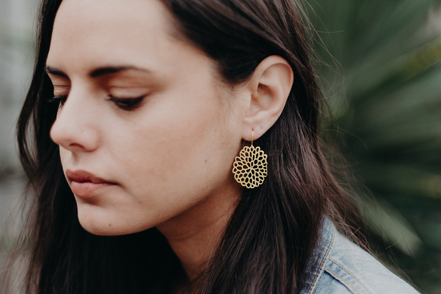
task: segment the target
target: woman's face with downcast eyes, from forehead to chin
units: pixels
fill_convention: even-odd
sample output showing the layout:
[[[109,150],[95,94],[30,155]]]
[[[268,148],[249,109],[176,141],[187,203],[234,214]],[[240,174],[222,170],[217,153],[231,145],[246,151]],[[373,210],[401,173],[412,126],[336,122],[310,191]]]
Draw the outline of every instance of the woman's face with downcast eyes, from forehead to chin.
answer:
[[[173,32],[157,0],[64,0],[57,12],[50,135],[93,234],[157,226],[234,185],[239,99]]]

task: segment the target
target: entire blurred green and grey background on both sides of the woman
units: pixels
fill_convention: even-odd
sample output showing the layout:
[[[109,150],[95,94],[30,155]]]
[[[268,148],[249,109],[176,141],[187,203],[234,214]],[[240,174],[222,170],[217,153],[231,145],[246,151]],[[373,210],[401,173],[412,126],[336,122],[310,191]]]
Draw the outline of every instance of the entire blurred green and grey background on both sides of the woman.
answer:
[[[37,0],[0,0],[0,270],[20,225],[15,123],[34,63]],[[307,0],[332,133],[374,253],[441,294],[441,0]],[[330,124],[331,125],[331,124]]]

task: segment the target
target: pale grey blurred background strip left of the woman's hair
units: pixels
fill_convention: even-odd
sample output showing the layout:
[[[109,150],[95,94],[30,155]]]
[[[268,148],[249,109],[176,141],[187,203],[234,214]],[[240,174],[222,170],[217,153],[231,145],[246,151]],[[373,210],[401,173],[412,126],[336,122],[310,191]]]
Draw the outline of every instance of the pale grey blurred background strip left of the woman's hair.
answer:
[[[15,144],[15,123],[34,67],[38,0],[0,0],[0,272],[20,226],[25,177]]]

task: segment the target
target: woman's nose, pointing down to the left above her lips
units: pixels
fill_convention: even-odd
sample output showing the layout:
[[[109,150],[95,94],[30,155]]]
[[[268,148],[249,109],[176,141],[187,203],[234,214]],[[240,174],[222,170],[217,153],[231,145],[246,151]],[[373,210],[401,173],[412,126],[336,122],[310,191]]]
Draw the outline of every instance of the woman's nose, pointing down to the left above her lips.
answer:
[[[70,151],[93,151],[99,143],[97,112],[87,94],[71,93],[52,124],[52,141]]]

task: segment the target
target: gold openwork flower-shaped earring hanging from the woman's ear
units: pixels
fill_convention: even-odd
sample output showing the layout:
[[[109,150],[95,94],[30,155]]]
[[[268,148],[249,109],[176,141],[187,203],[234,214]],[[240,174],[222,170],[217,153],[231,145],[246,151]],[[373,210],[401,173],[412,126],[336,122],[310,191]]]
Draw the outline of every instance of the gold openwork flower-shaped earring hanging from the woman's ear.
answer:
[[[268,174],[267,155],[260,147],[253,146],[254,128],[251,130],[251,146],[245,146],[236,156],[233,173],[236,181],[247,188],[258,187]]]

